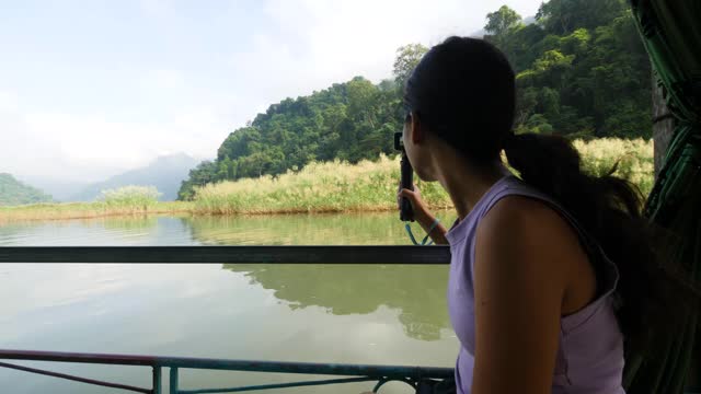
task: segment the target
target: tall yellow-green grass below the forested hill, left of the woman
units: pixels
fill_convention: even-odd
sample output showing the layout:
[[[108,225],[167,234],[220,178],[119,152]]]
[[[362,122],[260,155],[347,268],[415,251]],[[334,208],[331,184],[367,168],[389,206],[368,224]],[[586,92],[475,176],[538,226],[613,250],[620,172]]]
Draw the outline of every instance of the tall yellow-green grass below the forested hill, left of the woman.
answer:
[[[389,210],[397,205],[399,163],[382,155],[377,162],[338,160],[310,163],[299,172],[206,185],[196,190],[198,213],[273,213]],[[423,186],[423,185],[422,185]],[[447,200],[430,185],[434,204]]]

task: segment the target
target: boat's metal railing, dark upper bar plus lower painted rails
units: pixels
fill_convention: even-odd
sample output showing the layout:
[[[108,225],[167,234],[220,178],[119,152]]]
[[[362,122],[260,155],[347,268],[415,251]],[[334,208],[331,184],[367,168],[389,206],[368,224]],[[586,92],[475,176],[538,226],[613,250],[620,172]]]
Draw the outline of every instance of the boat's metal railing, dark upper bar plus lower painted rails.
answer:
[[[0,247],[0,263],[165,263],[165,264],[424,264],[446,265],[450,262],[447,246],[10,246]],[[0,350],[0,360],[54,361],[92,364],[141,366],[152,369],[152,386],[138,387],[122,383],[87,379],[26,366],[0,362],[0,368],[100,385],[136,393],[162,393],[162,372],[169,369],[169,393],[233,393],[269,389],[326,384],[376,382],[374,392],[384,383],[400,381],[416,387],[432,379],[451,379],[450,368],[360,366],[335,363],[274,362],[134,355],[96,355],[27,350]],[[327,375],[334,379],[288,383],[181,390],[182,369],[291,373]],[[343,378],[337,378],[343,376]]]

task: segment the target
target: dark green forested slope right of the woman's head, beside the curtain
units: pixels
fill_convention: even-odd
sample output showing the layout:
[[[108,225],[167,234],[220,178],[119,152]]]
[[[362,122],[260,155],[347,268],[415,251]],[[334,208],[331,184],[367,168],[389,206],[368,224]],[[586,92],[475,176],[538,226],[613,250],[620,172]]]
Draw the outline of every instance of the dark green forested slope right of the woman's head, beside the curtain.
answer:
[[[517,72],[517,131],[652,135],[650,60],[624,0],[551,0],[529,25],[503,7],[485,31]]]

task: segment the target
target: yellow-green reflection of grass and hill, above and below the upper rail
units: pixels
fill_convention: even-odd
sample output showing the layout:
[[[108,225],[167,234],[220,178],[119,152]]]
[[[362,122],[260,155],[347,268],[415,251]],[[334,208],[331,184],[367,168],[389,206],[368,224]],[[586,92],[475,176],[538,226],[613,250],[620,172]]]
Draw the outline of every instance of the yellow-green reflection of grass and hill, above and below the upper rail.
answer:
[[[451,220],[451,212],[441,212]],[[184,219],[203,244],[336,245],[406,244],[394,212],[197,217]],[[321,306],[334,315],[368,314],[380,305],[397,309],[404,333],[440,339],[449,328],[445,289],[447,267],[378,265],[225,265],[252,285],[274,290],[291,310]]]

